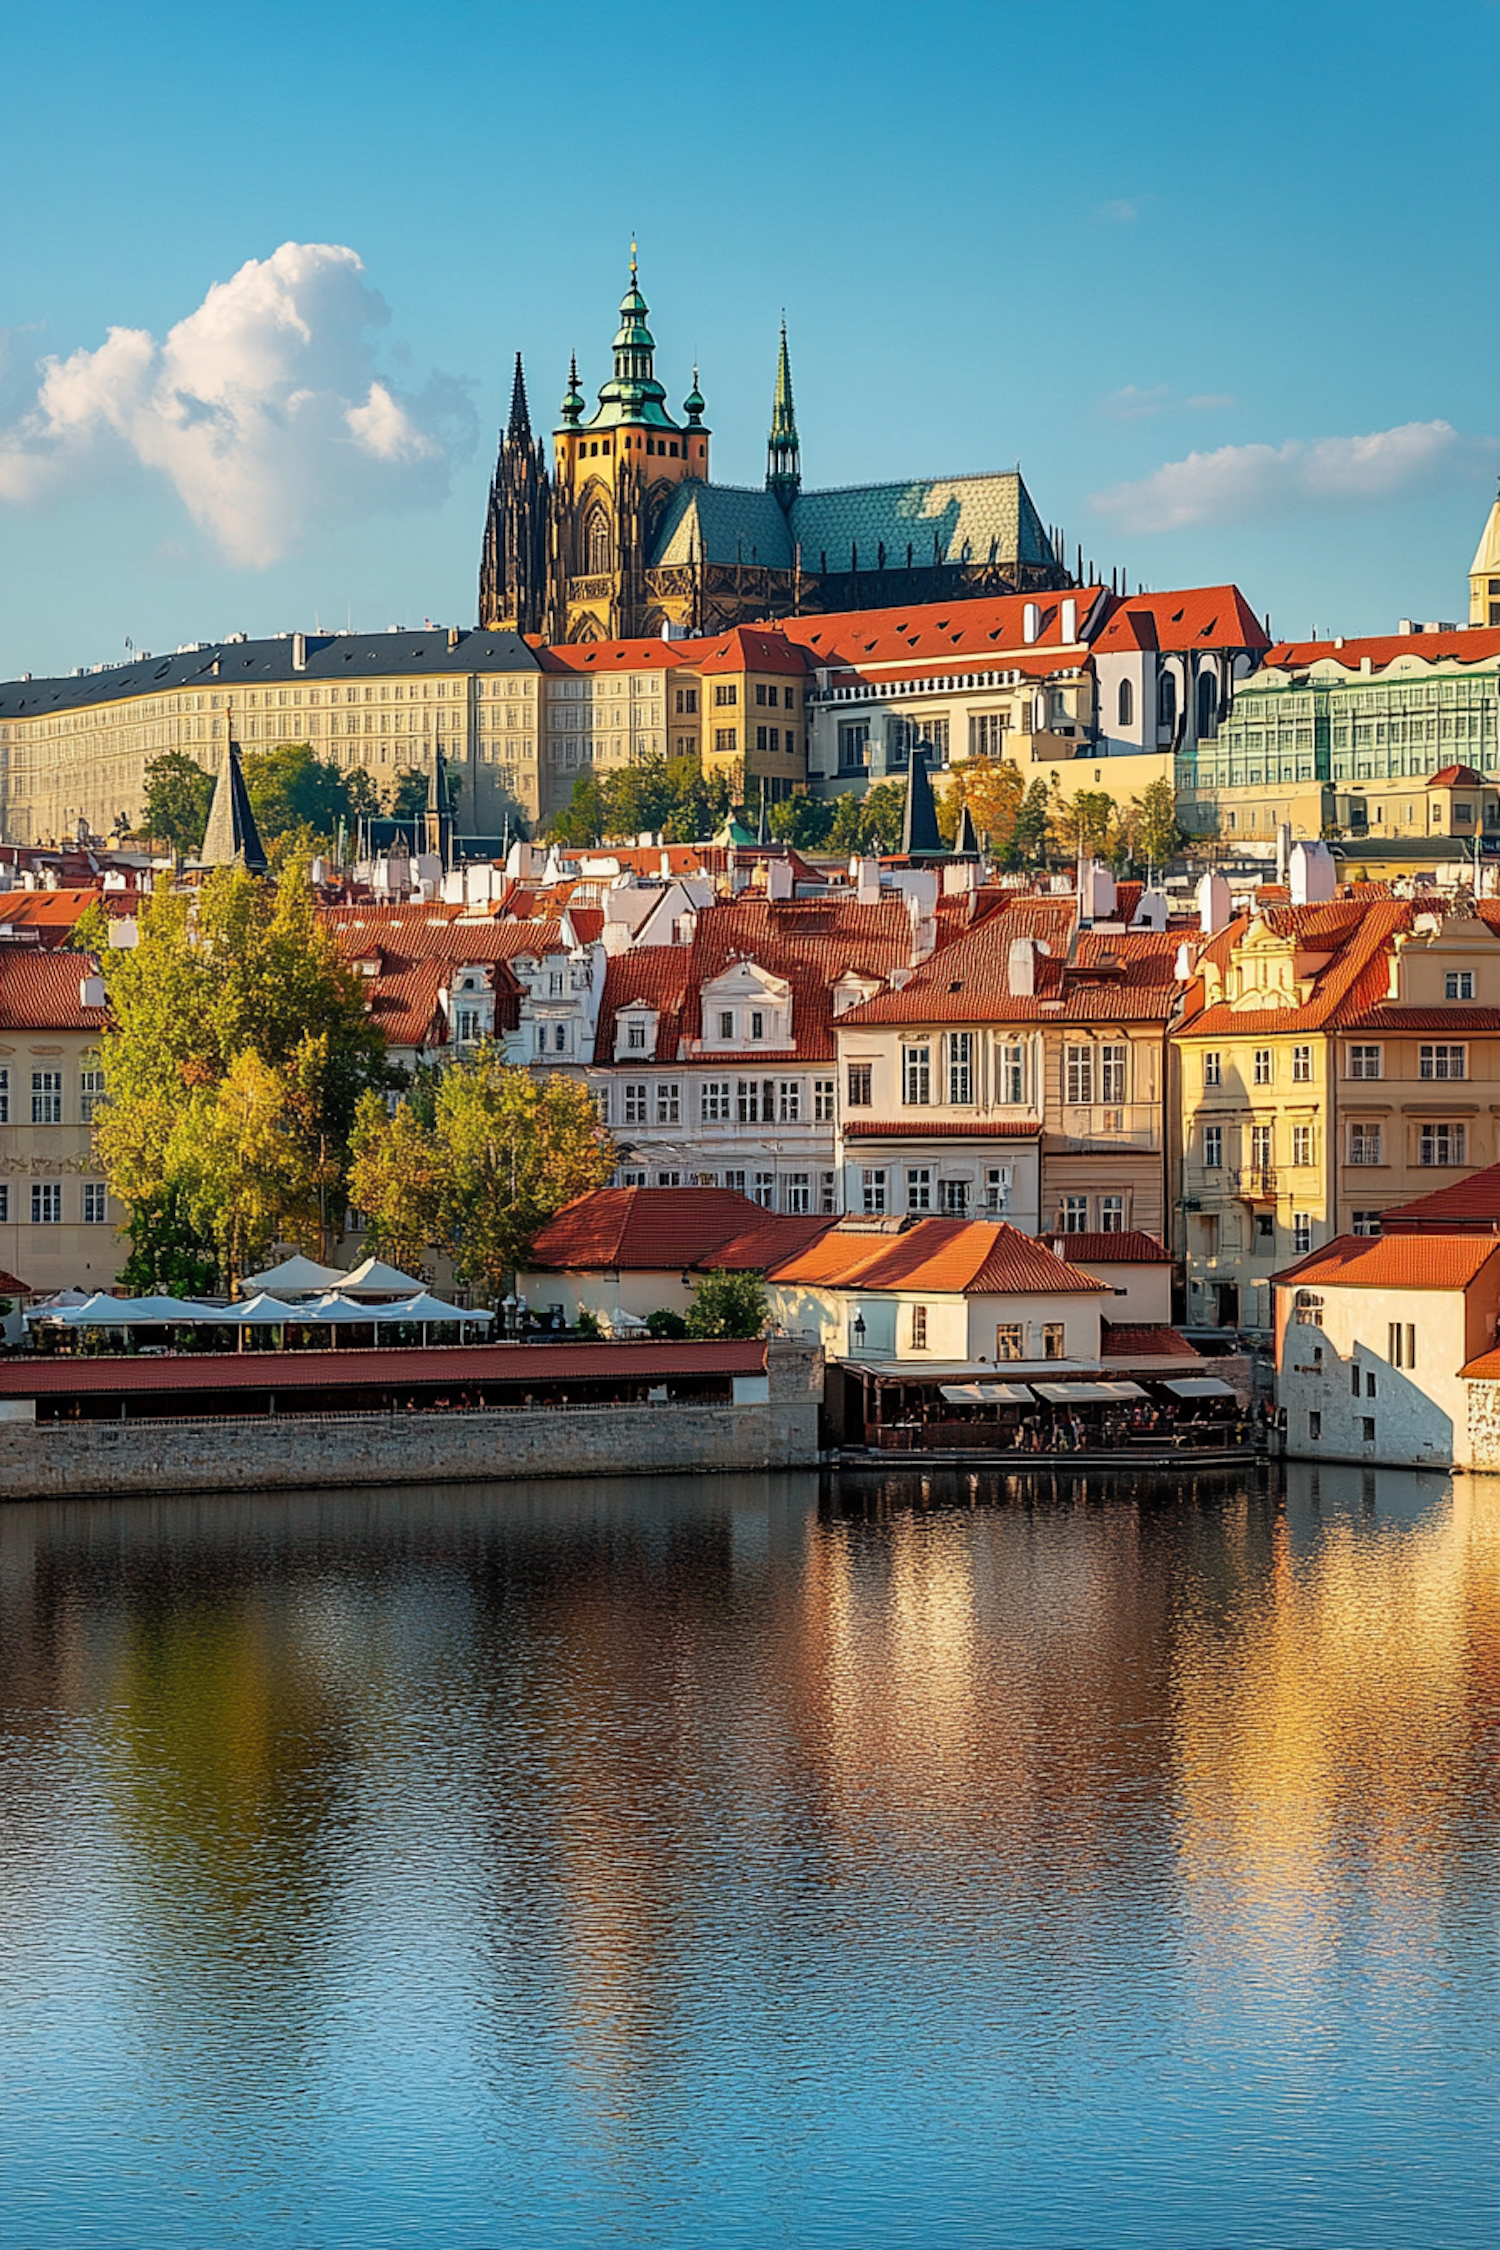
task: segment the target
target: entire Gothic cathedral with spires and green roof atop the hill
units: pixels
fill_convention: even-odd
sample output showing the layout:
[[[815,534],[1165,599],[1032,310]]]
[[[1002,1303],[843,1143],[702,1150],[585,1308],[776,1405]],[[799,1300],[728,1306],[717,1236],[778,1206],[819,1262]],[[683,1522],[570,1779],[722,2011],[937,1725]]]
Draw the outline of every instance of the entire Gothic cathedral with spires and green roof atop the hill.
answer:
[[[484,526],[481,628],[544,641],[711,634],[1075,583],[1019,468],[803,490],[785,322],[765,486],[713,484],[697,369],[675,421],[648,313],[632,248],[614,374],[589,414],[573,360],[551,452],[533,436],[517,353]]]

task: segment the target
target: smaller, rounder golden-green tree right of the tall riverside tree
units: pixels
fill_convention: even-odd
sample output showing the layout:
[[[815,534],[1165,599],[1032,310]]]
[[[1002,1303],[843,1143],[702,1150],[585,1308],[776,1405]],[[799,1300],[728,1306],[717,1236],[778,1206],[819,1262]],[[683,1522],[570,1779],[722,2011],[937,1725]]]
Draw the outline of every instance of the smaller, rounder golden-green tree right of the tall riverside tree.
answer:
[[[376,1094],[364,1096],[349,1192],[376,1249],[407,1260],[418,1249],[443,1251],[461,1280],[499,1296],[537,1228],[562,1204],[603,1188],[614,1163],[587,1087],[537,1078],[486,1046],[394,1116]]]

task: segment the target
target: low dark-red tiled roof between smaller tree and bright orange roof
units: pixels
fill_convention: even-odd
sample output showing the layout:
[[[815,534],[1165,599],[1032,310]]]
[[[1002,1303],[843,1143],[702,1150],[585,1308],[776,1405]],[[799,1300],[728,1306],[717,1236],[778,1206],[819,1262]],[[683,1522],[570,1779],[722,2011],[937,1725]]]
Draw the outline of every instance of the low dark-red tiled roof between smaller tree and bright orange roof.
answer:
[[[832,1224],[762,1210],[731,1188],[598,1188],[546,1222],[531,1244],[531,1264],[587,1274],[722,1264],[762,1274]]]

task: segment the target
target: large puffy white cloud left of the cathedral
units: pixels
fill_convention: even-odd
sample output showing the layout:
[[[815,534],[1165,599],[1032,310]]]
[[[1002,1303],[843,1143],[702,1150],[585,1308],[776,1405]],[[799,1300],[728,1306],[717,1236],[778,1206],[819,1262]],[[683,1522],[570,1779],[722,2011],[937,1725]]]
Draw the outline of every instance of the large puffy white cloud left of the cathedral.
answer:
[[[216,281],[157,342],[110,328],[94,351],[40,362],[27,410],[0,430],[0,502],[36,506],[110,457],[164,475],[241,567],[277,562],[319,524],[432,506],[475,443],[466,387],[400,392],[376,374],[387,326],[364,266],[337,243],[283,243]]]

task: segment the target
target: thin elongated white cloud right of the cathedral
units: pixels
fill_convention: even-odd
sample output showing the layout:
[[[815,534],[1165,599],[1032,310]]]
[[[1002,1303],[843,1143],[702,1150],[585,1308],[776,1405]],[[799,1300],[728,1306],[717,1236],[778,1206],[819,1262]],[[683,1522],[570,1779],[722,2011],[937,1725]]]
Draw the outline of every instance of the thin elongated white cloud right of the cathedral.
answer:
[[[1311,443],[1219,446],[1093,493],[1091,506],[1118,531],[1185,531],[1304,508],[1361,508],[1466,475],[1489,452],[1491,439],[1462,436],[1446,421]]]

